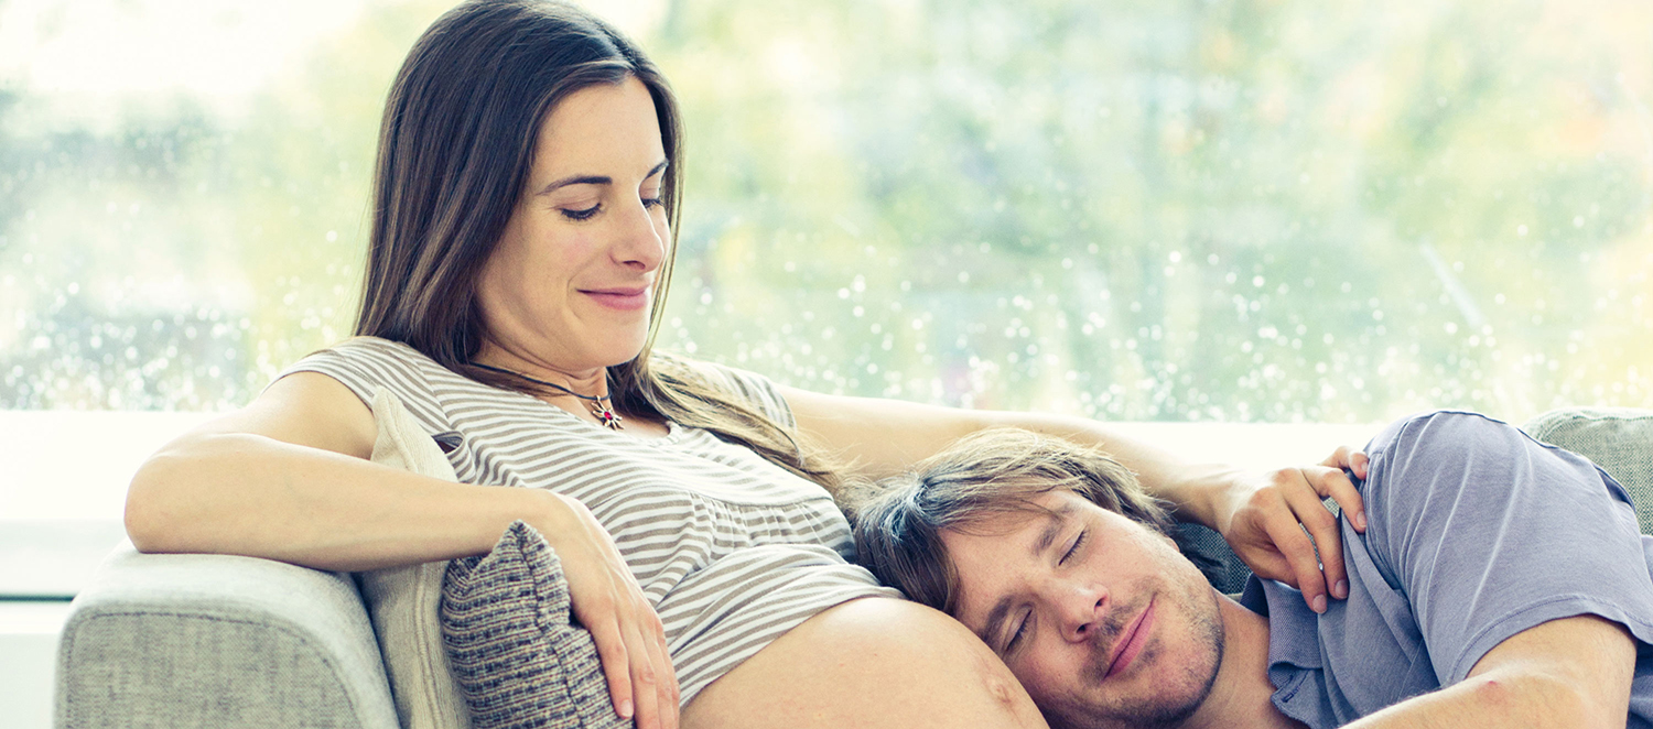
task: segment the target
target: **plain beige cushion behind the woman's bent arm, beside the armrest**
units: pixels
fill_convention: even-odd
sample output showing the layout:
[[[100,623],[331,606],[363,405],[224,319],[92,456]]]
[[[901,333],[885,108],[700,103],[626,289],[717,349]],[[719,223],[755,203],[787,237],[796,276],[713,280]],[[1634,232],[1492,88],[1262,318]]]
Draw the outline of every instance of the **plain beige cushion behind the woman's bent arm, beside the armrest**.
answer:
[[[458,481],[431,433],[387,388],[374,392],[374,463]],[[438,603],[448,562],[357,572],[403,729],[469,729],[471,716],[441,645]]]

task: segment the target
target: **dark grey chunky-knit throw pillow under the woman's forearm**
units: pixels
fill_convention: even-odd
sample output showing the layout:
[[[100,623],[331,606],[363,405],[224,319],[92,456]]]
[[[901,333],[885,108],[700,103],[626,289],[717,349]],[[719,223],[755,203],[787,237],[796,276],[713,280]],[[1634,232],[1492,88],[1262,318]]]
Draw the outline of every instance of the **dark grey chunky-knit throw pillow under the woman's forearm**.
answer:
[[[476,729],[628,727],[592,635],[572,622],[557,552],[517,521],[494,550],[448,564],[441,635]]]

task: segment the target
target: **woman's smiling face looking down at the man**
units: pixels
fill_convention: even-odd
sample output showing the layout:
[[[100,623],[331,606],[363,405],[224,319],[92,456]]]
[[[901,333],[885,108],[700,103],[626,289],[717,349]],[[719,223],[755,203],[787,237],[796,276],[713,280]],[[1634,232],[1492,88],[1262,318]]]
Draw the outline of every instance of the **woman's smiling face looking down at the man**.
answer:
[[[588,86],[559,102],[483,266],[479,359],[574,375],[636,357],[671,241],[665,177],[643,83]]]

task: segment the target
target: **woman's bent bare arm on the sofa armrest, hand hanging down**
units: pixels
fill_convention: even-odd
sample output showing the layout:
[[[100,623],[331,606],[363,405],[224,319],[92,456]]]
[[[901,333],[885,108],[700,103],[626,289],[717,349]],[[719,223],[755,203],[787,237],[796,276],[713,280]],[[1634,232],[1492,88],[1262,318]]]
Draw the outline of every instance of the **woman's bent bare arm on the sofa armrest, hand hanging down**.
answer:
[[[369,461],[374,415],[337,380],[283,377],[246,408],[164,446],[132,476],[126,531],[144,552],[215,552],[324,570],[484,554],[512,521],[557,550],[615,711],[678,726],[665,627],[584,504],[544,489],[473,486]]]

